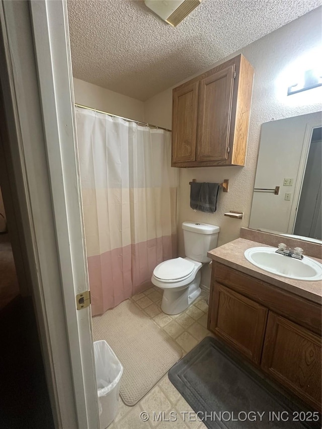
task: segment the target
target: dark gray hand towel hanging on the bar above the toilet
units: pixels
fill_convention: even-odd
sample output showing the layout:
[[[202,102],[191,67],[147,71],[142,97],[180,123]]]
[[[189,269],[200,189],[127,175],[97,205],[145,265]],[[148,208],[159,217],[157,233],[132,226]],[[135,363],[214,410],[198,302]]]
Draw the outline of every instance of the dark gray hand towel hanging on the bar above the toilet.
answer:
[[[214,213],[217,210],[218,183],[192,182],[190,188],[190,207],[201,212]]]

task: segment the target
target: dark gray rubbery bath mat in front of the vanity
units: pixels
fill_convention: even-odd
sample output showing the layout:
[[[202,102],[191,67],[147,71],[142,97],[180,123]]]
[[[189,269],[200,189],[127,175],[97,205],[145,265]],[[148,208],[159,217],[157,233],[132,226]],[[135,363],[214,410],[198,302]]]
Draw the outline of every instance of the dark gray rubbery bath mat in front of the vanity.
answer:
[[[292,402],[210,336],[171,368],[169,379],[209,429],[321,427],[313,421],[317,413]]]

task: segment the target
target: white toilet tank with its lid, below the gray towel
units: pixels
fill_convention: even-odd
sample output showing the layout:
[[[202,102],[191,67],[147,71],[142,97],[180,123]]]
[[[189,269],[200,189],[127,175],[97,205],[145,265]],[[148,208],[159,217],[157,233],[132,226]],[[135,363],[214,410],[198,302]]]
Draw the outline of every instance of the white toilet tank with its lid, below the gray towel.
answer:
[[[183,222],[185,253],[198,262],[210,262],[207,251],[217,247],[219,226],[199,222]]]

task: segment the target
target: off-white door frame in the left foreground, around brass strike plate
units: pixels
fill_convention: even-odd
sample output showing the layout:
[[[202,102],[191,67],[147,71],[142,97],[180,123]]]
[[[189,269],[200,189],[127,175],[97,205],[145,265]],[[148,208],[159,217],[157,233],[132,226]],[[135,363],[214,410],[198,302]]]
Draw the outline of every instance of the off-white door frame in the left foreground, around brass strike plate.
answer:
[[[66,2],[0,3],[0,79],[56,427],[99,427]]]

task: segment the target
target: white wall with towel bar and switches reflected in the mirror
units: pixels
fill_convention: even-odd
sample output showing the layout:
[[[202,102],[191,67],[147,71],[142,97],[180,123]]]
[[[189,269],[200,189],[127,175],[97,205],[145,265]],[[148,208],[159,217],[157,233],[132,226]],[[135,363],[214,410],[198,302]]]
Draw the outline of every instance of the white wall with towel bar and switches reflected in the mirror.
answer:
[[[298,200],[298,193],[294,191],[306,127],[321,124],[321,112],[316,112],[262,125],[255,188],[280,186],[280,193],[254,192],[250,228],[293,233],[294,222],[290,222],[290,216],[293,199]],[[303,177],[302,171],[300,176]],[[284,178],[293,179],[293,186],[283,186]],[[289,201],[285,201],[285,193],[291,194]],[[296,201],[294,203],[295,208]]]

